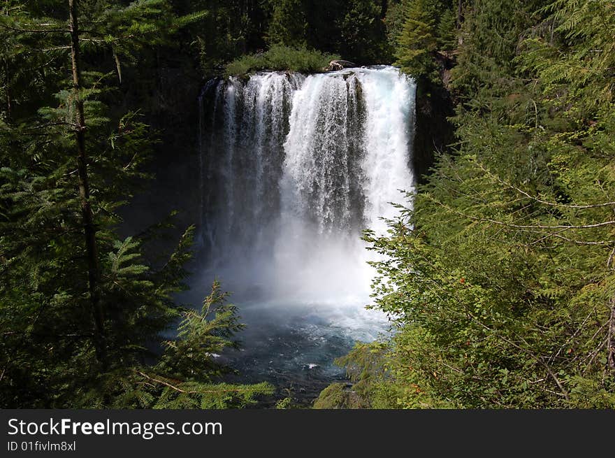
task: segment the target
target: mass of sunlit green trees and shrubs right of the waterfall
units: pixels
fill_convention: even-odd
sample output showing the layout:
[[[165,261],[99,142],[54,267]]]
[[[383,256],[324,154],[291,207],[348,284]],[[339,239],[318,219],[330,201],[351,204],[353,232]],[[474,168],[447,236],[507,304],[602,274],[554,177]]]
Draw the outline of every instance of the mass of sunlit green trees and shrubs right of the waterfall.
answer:
[[[398,331],[342,359],[326,406],[615,406],[614,6],[543,7],[465,9],[455,151],[365,236]]]

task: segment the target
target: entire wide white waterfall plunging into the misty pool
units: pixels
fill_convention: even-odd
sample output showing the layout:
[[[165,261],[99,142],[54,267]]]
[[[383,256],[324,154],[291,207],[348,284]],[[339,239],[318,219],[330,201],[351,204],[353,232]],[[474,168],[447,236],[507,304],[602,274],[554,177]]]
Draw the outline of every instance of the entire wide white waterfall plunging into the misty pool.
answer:
[[[414,182],[415,90],[390,66],[211,83],[198,143],[211,271],[254,299],[363,306],[361,231],[384,233]]]

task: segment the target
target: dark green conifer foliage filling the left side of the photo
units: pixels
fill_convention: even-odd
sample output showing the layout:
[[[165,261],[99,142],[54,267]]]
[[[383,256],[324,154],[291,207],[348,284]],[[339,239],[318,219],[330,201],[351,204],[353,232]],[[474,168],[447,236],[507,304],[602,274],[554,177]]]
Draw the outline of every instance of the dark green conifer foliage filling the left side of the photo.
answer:
[[[235,308],[217,284],[200,313],[174,299],[194,227],[160,264],[143,255],[152,231],[117,235],[157,141],[143,113],[122,109],[122,70],[203,13],[163,0],[78,6],[80,55],[64,1],[9,1],[0,16],[0,405],[245,406],[270,387],[220,383],[230,369],[213,357],[236,347]]]

